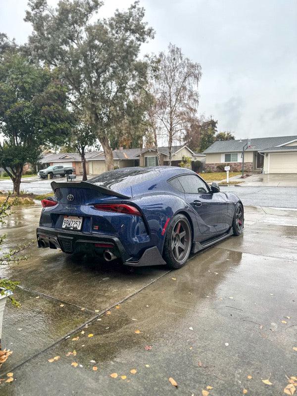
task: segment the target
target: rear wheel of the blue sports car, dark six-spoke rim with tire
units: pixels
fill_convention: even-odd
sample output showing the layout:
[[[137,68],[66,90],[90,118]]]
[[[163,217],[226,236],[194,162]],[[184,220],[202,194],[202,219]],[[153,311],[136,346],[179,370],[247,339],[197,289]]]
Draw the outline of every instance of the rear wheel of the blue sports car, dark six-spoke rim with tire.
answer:
[[[182,236],[181,236],[182,235]],[[181,268],[189,258],[192,247],[192,229],[183,214],[177,214],[170,222],[163,248],[163,256],[169,268]]]

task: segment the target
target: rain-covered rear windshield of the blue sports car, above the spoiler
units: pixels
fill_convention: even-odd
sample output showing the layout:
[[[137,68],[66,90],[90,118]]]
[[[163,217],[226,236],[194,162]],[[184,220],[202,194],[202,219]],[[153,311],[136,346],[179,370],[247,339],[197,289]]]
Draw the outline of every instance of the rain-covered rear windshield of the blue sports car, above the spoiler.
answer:
[[[88,182],[118,193],[127,194],[131,186],[147,182],[159,176],[159,174],[160,171],[157,169],[124,168],[101,173],[99,176],[88,180]]]

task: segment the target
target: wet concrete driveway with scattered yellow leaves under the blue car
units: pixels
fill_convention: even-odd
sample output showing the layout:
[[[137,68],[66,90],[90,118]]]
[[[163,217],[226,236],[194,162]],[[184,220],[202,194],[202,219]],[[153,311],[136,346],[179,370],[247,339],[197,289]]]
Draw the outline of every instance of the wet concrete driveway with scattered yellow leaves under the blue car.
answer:
[[[35,237],[40,210],[16,210],[7,247]],[[1,269],[22,307],[5,309],[0,395],[283,394],[297,376],[297,211],[245,217],[242,236],[178,271],[36,247]]]

